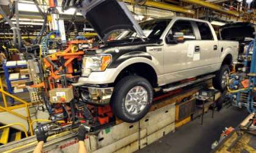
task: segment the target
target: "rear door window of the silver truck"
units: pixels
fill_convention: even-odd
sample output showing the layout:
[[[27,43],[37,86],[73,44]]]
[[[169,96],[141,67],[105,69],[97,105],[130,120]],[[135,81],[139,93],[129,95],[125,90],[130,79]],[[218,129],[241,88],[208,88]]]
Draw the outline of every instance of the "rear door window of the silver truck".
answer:
[[[207,23],[196,22],[202,40],[213,40],[212,31]]]

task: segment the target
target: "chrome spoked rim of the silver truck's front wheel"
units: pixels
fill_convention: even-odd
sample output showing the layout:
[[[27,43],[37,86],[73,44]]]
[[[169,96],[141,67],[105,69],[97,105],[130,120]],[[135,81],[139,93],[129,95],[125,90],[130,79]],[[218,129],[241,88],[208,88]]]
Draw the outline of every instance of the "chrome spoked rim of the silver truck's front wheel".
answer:
[[[124,106],[129,114],[138,115],[148,103],[148,91],[142,86],[129,90],[124,100]]]

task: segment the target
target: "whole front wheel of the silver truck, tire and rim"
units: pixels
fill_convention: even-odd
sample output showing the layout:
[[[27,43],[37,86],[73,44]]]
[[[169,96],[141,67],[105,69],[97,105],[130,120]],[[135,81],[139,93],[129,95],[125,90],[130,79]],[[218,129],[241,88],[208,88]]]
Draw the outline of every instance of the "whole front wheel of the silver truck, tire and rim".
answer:
[[[128,76],[116,84],[111,106],[117,118],[133,123],[148,113],[152,99],[153,89],[148,80],[139,76]]]

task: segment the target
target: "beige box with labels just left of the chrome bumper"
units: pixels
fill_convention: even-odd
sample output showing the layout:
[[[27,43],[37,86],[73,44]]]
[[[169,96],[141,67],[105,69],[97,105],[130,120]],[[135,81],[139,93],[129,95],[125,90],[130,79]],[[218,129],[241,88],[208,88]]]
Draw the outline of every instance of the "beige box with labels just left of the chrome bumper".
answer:
[[[74,98],[73,87],[49,90],[51,103],[69,103]]]

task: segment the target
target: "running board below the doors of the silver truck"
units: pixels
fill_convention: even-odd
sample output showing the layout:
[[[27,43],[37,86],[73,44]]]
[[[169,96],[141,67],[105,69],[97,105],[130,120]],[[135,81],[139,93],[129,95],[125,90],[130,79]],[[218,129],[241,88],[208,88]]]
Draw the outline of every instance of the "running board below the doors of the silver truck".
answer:
[[[170,85],[166,88],[163,88],[163,92],[169,92],[169,91],[172,91],[172,90],[180,89],[182,87],[190,86],[190,85],[195,84],[195,83],[200,83],[202,81],[208,80],[208,79],[213,78],[213,77],[215,77],[215,75],[206,75],[204,77],[197,78],[196,80],[189,81],[187,83],[182,83],[182,84],[178,84],[178,85],[177,84],[176,85]]]

